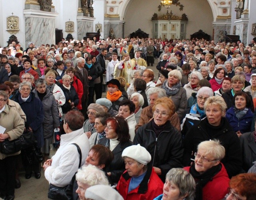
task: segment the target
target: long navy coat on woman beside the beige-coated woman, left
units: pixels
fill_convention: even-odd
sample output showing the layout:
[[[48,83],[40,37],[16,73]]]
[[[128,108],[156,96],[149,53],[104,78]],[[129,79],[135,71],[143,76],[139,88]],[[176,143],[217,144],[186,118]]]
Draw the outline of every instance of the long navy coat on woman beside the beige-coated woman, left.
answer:
[[[44,108],[40,99],[35,97],[34,93],[30,93],[29,98],[24,102],[19,94],[18,99],[15,99],[23,112],[26,114],[25,127],[31,127],[37,140],[37,147],[42,148],[44,146],[44,132],[43,132],[43,122],[44,122]]]

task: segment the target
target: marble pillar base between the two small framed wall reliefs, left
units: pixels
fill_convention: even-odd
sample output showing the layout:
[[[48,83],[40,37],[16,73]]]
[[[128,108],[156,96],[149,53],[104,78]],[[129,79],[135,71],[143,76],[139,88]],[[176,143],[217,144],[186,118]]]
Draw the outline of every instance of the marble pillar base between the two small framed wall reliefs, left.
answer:
[[[77,16],[77,39],[82,40],[87,32],[93,31],[93,21],[95,18],[86,17],[86,16]]]

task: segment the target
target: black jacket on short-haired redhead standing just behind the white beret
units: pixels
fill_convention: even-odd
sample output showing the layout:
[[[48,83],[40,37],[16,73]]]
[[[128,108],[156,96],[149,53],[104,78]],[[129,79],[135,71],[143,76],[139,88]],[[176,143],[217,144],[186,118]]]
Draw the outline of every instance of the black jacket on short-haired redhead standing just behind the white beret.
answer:
[[[159,176],[165,182],[167,172],[172,168],[182,167],[183,146],[181,134],[168,120],[156,138],[152,121],[138,128],[133,144],[145,147],[151,155],[154,167],[161,169]]]

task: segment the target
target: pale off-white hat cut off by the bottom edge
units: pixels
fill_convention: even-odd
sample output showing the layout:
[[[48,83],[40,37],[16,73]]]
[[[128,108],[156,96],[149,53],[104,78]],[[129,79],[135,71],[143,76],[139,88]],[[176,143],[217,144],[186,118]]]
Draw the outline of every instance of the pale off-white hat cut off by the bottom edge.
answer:
[[[86,199],[94,200],[124,200],[122,196],[111,186],[95,185],[85,191]]]

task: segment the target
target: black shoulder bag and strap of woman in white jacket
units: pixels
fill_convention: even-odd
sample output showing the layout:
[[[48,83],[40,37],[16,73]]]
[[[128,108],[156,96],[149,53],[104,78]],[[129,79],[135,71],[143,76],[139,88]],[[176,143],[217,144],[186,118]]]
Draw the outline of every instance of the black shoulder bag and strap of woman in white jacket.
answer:
[[[80,147],[76,144],[76,143],[72,143],[76,146],[77,151],[80,155],[80,160],[79,160],[79,168],[81,167],[81,162],[82,162],[82,152]],[[68,187],[57,187],[54,186],[53,184],[50,184],[49,189],[48,189],[48,198],[49,199],[54,199],[54,200],[64,200],[67,199],[66,195],[65,195],[65,190]]]

